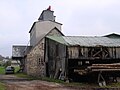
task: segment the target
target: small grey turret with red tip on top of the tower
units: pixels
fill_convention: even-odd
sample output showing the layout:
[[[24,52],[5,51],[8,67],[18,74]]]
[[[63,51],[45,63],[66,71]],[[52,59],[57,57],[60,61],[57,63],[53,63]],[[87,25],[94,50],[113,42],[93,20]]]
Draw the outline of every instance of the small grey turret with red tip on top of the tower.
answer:
[[[38,20],[39,21],[55,21],[55,16],[53,15],[53,13],[54,11],[51,11],[51,6],[49,6],[46,10],[43,10]]]

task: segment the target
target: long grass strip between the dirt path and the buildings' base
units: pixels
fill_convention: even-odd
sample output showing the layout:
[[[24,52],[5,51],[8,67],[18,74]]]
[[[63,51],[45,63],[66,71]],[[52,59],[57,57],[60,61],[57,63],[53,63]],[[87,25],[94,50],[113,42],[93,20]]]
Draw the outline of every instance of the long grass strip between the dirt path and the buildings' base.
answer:
[[[79,83],[79,82],[70,82],[70,83],[66,83],[62,80],[58,80],[58,79],[53,79],[53,78],[48,78],[48,77],[33,77],[33,76],[29,76],[27,74],[24,73],[17,73],[15,74],[17,77],[21,77],[21,78],[27,78],[28,80],[43,80],[43,81],[48,81],[48,82],[55,82],[55,83],[60,83],[62,85],[65,85],[67,87],[78,87],[78,88],[95,88],[95,89],[99,89],[99,88],[120,88],[120,82],[118,83],[110,83],[107,86],[103,86],[103,87],[99,87],[97,83]]]

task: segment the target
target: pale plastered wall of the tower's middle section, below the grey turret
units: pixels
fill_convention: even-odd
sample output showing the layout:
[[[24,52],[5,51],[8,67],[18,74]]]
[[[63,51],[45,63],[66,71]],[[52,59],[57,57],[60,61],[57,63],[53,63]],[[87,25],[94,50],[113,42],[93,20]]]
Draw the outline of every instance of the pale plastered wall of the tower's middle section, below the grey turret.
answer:
[[[61,24],[52,21],[41,21],[35,24],[35,34],[31,39],[31,45],[35,46],[47,33],[49,33],[53,28],[58,28],[61,30]]]

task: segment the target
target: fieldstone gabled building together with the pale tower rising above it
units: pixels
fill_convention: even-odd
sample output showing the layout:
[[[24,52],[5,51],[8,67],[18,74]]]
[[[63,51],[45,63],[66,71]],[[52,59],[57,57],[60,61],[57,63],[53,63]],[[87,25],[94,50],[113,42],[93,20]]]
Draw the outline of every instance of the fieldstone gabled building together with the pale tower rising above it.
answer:
[[[46,76],[45,37],[63,36],[62,24],[55,21],[53,13],[50,9],[44,10],[29,31],[32,48],[25,57],[25,71],[28,75]]]

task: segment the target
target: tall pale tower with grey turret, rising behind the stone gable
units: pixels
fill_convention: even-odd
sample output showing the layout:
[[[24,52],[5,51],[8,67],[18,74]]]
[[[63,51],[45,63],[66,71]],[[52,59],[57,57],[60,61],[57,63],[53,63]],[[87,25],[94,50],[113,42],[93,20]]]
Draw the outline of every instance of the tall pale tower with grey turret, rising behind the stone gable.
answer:
[[[54,11],[49,6],[48,9],[43,10],[38,21],[34,22],[30,33],[30,46],[35,46],[49,31],[57,28],[61,31],[61,23],[55,21]]]

